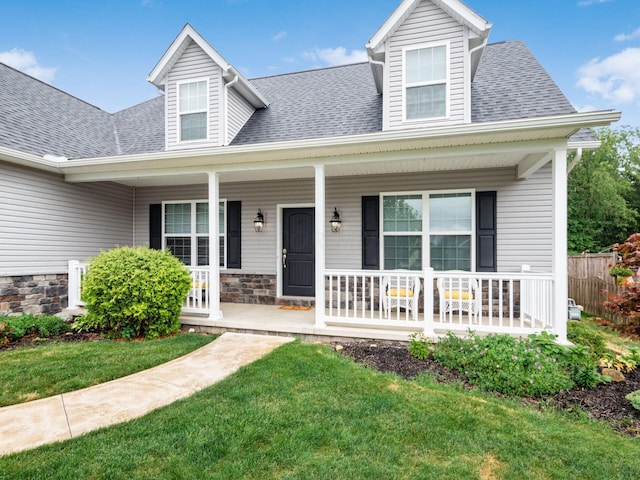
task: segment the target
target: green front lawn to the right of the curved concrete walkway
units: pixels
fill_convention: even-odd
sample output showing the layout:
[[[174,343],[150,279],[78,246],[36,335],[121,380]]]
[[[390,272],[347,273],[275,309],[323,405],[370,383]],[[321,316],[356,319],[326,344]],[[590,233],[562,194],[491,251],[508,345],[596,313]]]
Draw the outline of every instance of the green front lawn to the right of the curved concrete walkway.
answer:
[[[0,457],[0,479],[640,478],[603,424],[294,342],[145,417]]]

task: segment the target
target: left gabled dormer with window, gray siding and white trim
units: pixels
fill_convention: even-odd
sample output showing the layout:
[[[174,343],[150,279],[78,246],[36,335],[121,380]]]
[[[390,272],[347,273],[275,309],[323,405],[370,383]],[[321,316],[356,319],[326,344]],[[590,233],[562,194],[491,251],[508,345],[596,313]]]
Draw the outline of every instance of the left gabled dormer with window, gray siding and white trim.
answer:
[[[267,100],[187,24],[147,78],[165,93],[165,148],[228,145]]]

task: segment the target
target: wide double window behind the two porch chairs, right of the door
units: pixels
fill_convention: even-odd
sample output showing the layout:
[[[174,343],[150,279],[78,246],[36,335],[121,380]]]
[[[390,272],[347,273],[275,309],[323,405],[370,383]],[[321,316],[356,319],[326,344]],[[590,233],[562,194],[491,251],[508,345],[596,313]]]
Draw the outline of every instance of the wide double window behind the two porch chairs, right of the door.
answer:
[[[382,194],[384,269],[471,270],[473,192]]]

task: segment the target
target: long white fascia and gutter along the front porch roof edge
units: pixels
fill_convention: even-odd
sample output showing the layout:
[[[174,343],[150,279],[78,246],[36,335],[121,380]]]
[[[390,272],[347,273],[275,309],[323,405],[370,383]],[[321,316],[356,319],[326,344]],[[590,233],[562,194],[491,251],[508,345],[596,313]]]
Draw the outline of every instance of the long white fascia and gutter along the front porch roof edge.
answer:
[[[419,143],[419,148],[429,148],[429,143],[432,146],[438,146],[437,142],[442,139],[446,139],[448,147],[509,143],[507,138],[514,132],[531,134],[541,131],[547,132],[545,138],[561,138],[571,135],[585,126],[610,125],[618,121],[620,116],[620,112],[609,110],[426,129],[392,130],[341,137],[85,158],[71,160],[59,165],[59,168],[65,174],[82,174],[155,168],[163,162],[175,164],[176,159],[179,159],[184,166],[225,164],[230,161],[238,164],[273,162],[287,158],[357,155],[360,152],[381,151],[380,148],[385,144],[389,151],[416,148],[411,143]],[[504,135],[502,139],[501,135]],[[145,166],[145,164],[147,165]]]

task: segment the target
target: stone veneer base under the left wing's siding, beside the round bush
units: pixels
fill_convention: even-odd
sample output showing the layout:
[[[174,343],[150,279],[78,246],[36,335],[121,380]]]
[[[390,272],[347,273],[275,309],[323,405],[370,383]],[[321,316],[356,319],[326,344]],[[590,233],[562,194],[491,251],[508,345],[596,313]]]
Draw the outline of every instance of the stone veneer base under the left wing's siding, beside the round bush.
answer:
[[[67,307],[67,274],[0,276],[0,313],[55,314]]]

